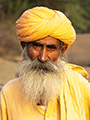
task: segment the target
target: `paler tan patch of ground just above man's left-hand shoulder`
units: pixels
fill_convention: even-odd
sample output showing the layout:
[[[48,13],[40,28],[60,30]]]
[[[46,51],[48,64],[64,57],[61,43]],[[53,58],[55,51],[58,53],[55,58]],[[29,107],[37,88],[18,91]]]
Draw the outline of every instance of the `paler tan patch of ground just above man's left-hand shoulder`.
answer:
[[[15,78],[17,62],[0,58],[0,84]]]

